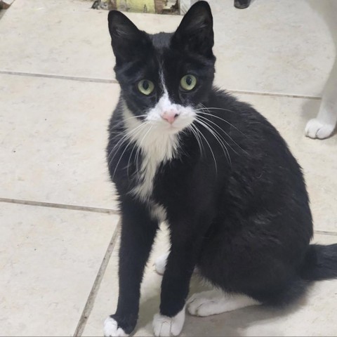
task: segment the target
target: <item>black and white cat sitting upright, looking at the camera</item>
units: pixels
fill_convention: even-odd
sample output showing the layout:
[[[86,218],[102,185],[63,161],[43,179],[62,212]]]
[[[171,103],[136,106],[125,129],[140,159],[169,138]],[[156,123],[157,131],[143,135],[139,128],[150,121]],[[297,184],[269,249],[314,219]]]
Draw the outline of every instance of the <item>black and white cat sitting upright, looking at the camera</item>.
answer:
[[[206,316],[296,300],[312,280],[337,277],[337,244],[310,245],[300,166],[250,105],[213,87],[213,18],[199,1],[173,34],[150,35],[109,13],[121,95],[107,161],[121,211],[119,300],[106,336],[136,326],[140,283],[159,223],[171,249],[156,336],[178,335],[185,305]],[[197,267],[216,288],[186,302]],[[164,268],[163,268],[164,269]]]

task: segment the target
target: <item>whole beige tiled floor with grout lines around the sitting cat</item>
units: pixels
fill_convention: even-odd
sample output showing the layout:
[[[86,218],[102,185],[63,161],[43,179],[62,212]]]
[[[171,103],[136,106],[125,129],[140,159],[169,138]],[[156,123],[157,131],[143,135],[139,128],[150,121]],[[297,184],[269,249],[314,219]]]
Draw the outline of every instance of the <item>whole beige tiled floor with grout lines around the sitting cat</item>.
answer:
[[[327,0],[210,1],[216,84],[252,103],[300,161],[315,241],[337,242],[337,136],[310,140],[335,58]],[[149,32],[180,17],[129,14]],[[0,19],[0,335],[102,336],[117,300],[117,205],[105,164],[117,102],[107,12],[88,1],[16,0]],[[293,97],[295,96],[295,97]],[[148,263],[136,336],[151,336],[161,277]],[[159,244],[158,244],[159,242]],[[111,258],[110,258],[111,256]],[[201,287],[197,277],[191,291]],[[337,281],[298,305],[187,316],[183,336],[336,336]]]

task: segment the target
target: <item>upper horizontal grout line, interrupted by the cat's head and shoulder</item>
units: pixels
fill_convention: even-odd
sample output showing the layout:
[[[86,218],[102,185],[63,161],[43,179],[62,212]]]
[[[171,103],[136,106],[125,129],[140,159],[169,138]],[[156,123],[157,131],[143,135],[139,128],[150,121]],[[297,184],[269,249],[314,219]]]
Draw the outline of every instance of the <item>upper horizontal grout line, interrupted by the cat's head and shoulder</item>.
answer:
[[[0,74],[14,75],[14,76],[27,76],[27,77],[44,77],[47,79],[66,79],[70,81],[81,81],[81,82],[95,82],[95,83],[107,83],[107,84],[118,84],[116,79],[95,79],[91,77],[76,77],[67,75],[53,75],[53,74],[39,74],[32,72],[11,72],[8,70],[0,70]],[[230,93],[243,93],[247,95],[260,95],[260,96],[276,96],[276,97],[288,97],[288,98],[306,98],[310,100],[321,100],[322,97],[312,96],[312,95],[292,95],[290,93],[263,93],[260,91],[244,91],[244,90],[231,90],[225,89]]]

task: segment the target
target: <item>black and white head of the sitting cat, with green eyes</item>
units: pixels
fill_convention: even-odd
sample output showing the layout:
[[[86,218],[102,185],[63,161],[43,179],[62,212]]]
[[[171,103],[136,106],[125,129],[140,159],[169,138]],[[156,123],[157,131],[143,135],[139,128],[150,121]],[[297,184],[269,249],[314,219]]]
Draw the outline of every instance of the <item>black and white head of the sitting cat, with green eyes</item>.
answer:
[[[163,133],[192,124],[214,78],[209,4],[194,4],[173,34],[147,34],[119,11],[110,11],[108,21],[114,70],[128,113]]]

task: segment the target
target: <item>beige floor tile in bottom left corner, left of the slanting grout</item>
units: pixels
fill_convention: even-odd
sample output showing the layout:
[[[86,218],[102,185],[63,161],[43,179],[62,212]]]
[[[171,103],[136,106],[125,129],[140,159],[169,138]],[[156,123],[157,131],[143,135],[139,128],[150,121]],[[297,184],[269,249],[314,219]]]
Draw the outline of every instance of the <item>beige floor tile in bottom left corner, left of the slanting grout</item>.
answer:
[[[72,336],[118,217],[0,203],[0,333]]]

